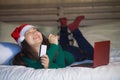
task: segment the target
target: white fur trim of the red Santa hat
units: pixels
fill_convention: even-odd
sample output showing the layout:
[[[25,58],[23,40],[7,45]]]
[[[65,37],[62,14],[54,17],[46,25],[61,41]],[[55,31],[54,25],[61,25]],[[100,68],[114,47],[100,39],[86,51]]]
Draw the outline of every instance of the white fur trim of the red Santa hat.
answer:
[[[32,27],[34,27],[34,26],[32,26],[32,25],[26,25],[25,27],[23,27],[23,29],[20,32],[20,37],[18,38],[18,44],[19,45],[21,45],[21,42],[25,39],[25,36],[24,36],[25,32],[27,30],[29,30],[30,28],[32,28]]]

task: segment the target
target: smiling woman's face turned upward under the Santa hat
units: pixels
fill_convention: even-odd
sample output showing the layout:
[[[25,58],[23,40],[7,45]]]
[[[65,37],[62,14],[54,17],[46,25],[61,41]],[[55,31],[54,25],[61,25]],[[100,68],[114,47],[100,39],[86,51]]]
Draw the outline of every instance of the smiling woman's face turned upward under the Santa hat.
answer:
[[[30,28],[25,32],[25,40],[31,46],[40,45],[43,41],[42,34],[36,28]]]

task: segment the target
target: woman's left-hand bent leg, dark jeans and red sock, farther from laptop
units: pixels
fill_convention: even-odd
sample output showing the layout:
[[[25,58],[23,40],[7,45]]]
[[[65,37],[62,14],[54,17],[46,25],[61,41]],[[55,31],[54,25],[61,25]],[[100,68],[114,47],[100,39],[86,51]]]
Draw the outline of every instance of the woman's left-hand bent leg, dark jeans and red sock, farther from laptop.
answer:
[[[69,38],[68,38],[68,26],[67,26],[67,19],[66,18],[60,18],[60,23],[61,23],[61,29],[60,29],[60,40],[59,43],[62,46],[63,50],[66,50],[75,57],[76,61],[84,60],[85,59],[85,54],[75,46],[71,46],[69,44]]]

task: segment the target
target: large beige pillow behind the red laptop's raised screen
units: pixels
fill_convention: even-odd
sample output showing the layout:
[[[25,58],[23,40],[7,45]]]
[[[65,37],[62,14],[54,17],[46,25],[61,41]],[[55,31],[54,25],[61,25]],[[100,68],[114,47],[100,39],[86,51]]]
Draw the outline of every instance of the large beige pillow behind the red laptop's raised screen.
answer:
[[[80,27],[80,30],[93,46],[96,41],[110,40],[111,48],[120,48],[120,21]]]

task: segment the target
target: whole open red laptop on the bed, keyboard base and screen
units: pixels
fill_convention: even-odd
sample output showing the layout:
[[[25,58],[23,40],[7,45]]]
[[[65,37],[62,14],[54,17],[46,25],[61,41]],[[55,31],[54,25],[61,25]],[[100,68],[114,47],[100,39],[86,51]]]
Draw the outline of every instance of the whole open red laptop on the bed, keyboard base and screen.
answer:
[[[100,41],[94,43],[93,61],[84,61],[81,64],[73,64],[71,67],[98,67],[109,63],[110,41]]]

